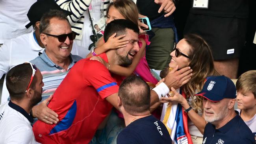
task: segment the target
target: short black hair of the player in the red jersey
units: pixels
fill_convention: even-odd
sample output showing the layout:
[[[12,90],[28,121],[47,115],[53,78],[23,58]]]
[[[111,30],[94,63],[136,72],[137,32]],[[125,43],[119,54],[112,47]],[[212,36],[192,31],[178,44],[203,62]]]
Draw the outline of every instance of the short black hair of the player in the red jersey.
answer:
[[[116,36],[126,34],[126,29],[139,33],[138,26],[130,20],[118,19],[109,22],[104,30],[104,41],[108,41],[108,38],[114,33],[117,33]]]

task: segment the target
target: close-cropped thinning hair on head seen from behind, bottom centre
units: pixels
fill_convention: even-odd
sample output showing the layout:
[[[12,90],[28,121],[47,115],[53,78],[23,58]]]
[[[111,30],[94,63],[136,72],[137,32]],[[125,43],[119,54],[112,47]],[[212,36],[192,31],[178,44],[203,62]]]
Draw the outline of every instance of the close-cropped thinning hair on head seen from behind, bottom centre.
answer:
[[[118,95],[129,114],[143,113],[150,108],[150,89],[138,76],[129,76],[122,81]]]

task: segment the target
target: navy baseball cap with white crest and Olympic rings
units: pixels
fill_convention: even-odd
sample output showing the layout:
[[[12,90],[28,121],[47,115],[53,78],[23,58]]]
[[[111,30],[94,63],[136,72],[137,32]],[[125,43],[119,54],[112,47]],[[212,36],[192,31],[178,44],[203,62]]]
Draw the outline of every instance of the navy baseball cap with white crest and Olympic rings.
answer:
[[[226,76],[209,76],[206,78],[204,87],[197,96],[217,102],[224,98],[236,98],[236,86],[233,81]]]

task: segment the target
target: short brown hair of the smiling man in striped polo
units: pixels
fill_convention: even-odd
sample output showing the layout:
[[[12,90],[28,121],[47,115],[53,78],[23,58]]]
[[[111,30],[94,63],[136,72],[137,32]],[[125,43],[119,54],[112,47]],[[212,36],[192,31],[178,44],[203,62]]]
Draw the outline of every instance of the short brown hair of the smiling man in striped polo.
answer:
[[[58,18],[59,20],[67,20],[67,22],[69,23],[66,13],[57,9],[51,9],[50,11],[45,13],[40,20],[39,33],[48,33],[50,31],[49,30],[50,19],[54,17]]]

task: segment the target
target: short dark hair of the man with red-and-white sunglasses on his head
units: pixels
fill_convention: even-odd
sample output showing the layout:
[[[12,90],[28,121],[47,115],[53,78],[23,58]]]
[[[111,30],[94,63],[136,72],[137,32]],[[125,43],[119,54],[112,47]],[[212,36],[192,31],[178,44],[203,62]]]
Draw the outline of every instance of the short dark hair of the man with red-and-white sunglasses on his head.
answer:
[[[6,87],[9,91],[11,100],[21,100],[26,93],[26,88],[32,76],[32,68],[29,63],[23,63],[14,66],[6,75]],[[32,89],[35,89],[37,82],[36,76],[33,77],[31,83]]]

